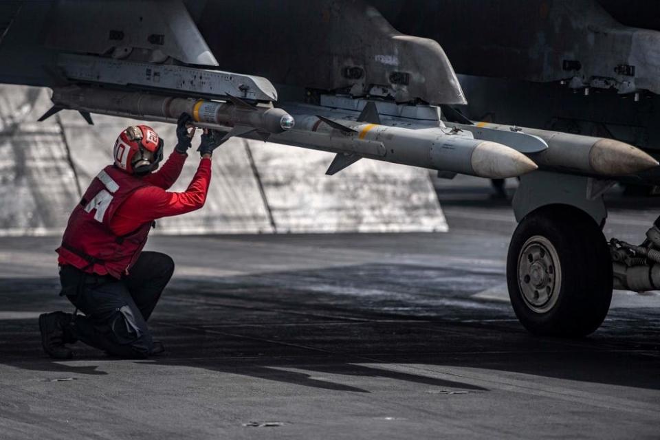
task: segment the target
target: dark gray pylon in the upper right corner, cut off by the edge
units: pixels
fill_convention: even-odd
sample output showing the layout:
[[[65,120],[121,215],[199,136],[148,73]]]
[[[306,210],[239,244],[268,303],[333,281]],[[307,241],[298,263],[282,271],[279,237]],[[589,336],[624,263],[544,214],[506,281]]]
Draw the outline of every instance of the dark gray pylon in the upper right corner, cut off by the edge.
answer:
[[[660,93],[660,32],[622,25],[595,0],[373,4],[402,32],[441,42],[460,74]]]

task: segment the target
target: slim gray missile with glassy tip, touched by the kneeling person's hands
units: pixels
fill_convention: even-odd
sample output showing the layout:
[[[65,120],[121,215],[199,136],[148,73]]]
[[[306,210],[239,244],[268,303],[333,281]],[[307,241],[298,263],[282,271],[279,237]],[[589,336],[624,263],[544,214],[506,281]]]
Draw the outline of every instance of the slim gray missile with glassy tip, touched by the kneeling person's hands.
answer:
[[[294,118],[283,109],[252,106],[228,96],[228,102],[179,98],[141,91],[117,91],[98,87],[69,86],[53,89],[53,109],[43,120],[59,109],[74,109],[80,113],[100,113],[140,120],[177,122],[181,113],[192,115],[193,125],[229,131],[233,135],[255,132],[262,139],[294,126]]]

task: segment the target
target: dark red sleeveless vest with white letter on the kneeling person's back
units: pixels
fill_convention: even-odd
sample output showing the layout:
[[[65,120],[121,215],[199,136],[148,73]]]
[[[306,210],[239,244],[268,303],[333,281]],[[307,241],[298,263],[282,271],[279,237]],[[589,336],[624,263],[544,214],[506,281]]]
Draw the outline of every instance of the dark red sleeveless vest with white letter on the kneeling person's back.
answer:
[[[144,248],[152,222],[117,236],[110,229],[110,221],[135,190],[148,185],[140,177],[111,165],[101,170],[69,217],[62,245],[56,250],[61,259],[90,274],[121,278],[128,273]]]

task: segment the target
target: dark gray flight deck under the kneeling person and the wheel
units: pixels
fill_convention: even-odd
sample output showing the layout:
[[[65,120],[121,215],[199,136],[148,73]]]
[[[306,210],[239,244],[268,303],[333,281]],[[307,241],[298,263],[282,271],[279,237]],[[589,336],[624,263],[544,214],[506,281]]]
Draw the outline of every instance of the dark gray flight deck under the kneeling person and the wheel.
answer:
[[[513,214],[466,182],[449,233],[152,237],[177,269],[149,360],[46,358],[37,316],[73,309],[58,238],[0,239],[0,438],[657,438],[660,294],[615,292],[589,338],[529,335]],[[659,211],[629,205],[608,237],[641,241]]]

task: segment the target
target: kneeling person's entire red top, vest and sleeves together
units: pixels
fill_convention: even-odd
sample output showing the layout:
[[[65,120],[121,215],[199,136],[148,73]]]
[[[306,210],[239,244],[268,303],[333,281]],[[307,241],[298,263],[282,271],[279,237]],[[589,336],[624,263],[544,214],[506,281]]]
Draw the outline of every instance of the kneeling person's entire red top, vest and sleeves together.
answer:
[[[159,171],[142,181],[118,168],[105,167],[85,191],[89,201],[81,201],[69,217],[63,245],[57,250],[58,263],[115,278],[127,273],[144,246],[151,221],[199,209],[206,201],[210,159],[201,159],[186,191],[167,191],[181,174],[187,156],[172,153]],[[117,236],[132,239],[118,241]],[[98,255],[109,257],[90,260]]]

